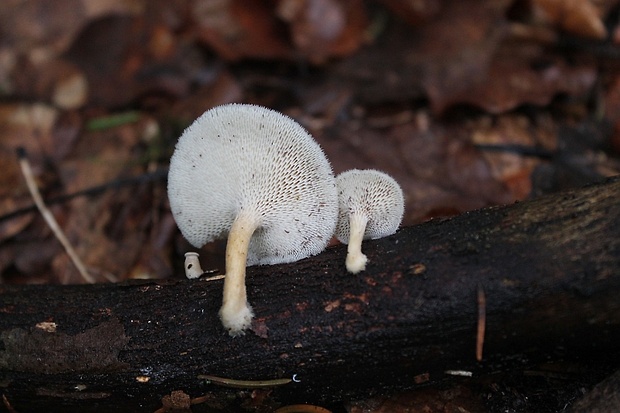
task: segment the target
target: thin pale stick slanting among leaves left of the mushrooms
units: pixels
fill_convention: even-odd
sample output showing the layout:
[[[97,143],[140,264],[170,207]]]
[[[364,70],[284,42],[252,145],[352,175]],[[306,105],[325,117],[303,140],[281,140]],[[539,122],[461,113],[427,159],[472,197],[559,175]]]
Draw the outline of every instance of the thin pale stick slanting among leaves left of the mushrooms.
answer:
[[[43,215],[43,219],[45,219],[47,225],[50,227],[58,241],[60,241],[60,243],[64,247],[67,255],[69,255],[69,258],[71,258],[71,261],[73,261],[73,265],[75,265],[84,281],[90,284],[94,284],[95,279],[90,276],[90,274],[86,270],[86,267],[84,266],[84,263],[82,262],[82,260],[80,260],[80,257],[78,257],[77,253],[71,246],[71,243],[62,232],[62,229],[58,225],[58,222],[54,218],[54,215],[47,208],[47,206],[45,206],[43,198],[41,197],[41,193],[39,192],[39,188],[37,187],[36,181],[34,179],[34,174],[32,173],[30,162],[28,162],[28,159],[26,158],[26,151],[24,150],[24,148],[17,149],[17,157],[19,159],[19,166],[21,167],[22,174],[26,179],[26,185],[28,186],[30,195],[32,196],[34,203],[39,209],[39,212],[41,213],[41,215]]]

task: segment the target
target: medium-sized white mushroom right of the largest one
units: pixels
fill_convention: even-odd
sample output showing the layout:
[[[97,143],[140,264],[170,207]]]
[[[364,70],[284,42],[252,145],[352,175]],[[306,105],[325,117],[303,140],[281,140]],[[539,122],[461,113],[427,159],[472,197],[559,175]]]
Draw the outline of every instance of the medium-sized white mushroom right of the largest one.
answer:
[[[392,235],[403,219],[403,191],[391,176],[374,170],[352,169],[336,177],[339,214],[336,238],[347,247],[347,270],[364,270],[368,258],[363,239]]]

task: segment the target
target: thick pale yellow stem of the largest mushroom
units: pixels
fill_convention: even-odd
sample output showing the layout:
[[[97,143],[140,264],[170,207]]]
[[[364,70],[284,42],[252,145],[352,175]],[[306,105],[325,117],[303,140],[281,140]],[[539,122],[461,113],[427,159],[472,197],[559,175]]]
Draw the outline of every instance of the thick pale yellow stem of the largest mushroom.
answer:
[[[226,277],[220,318],[231,336],[244,334],[252,323],[252,307],[245,289],[245,266],[250,238],[258,227],[255,214],[239,213],[228,233],[226,244]]]

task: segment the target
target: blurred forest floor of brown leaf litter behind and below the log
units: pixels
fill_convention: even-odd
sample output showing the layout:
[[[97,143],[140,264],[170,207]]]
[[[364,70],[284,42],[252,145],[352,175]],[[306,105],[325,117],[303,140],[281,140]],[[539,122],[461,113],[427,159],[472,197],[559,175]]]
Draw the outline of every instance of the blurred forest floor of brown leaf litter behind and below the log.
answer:
[[[170,213],[167,165],[183,129],[224,103],[291,116],[335,173],[392,175],[404,226],[620,173],[620,2],[413,3],[3,5],[1,282],[85,282],[36,210],[18,148],[97,282],[183,278],[190,245]],[[222,268],[222,252],[202,256]],[[555,412],[600,379],[546,367],[342,411]]]

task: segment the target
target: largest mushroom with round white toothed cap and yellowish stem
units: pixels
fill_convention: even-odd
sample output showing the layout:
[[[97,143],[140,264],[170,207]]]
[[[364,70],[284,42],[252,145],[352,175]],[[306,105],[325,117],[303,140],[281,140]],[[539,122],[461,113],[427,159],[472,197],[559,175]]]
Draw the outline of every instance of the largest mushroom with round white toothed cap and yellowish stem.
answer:
[[[321,147],[293,119],[256,105],[215,107],[183,132],[170,159],[168,197],[196,248],[228,236],[219,315],[232,336],[253,317],[246,265],[318,254],[338,217],[335,178]]]

